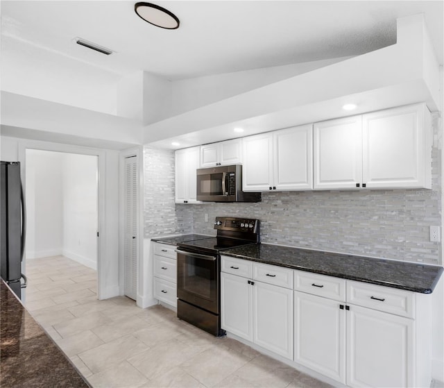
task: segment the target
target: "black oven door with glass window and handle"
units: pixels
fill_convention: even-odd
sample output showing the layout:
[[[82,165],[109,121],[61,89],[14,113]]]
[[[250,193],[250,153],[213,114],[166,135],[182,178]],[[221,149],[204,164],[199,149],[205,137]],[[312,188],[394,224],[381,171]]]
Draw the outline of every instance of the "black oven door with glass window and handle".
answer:
[[[218,255],[187,251],[178,253],[178,298],[219,314]]]

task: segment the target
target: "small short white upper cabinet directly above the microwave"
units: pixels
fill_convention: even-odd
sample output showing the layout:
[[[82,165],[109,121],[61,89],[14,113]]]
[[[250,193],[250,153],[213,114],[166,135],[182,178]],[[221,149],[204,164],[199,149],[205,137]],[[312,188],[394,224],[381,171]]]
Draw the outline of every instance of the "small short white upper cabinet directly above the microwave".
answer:
[[[200,146],[200,167],[238,165],[242,162],[242,139]]]

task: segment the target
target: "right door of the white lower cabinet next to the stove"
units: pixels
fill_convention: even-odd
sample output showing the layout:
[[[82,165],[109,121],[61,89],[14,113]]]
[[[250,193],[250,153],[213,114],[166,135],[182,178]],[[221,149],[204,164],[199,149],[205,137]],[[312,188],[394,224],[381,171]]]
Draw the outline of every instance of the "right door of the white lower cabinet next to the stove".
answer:
[[[293,290],[253,285],[253,341],[293,360]]]

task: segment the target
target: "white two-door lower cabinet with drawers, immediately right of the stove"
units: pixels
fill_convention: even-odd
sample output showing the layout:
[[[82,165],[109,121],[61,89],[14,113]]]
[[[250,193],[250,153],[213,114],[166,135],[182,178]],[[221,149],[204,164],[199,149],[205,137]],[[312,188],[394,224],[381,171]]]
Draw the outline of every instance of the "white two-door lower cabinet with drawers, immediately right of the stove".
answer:
[[[269,351],[288,359],[293,358],[293,290],[257,281],[253,277],[233,275],[245,263],[251,266],[246,273],[253,273],[256,264],[246,260],[226,258],[221,273],[221,326],[223,330],[252,341]],[[239,265],[237,265],[239,260]],[[258,264],[264,269],[264,264]],[[232,268],[234,267],[234,268]],[[268,277],[278,277],[274,266],[267,266]],[[282,269],[281,269],[282,270]],[[291,270],[288,270],[291,272]]]

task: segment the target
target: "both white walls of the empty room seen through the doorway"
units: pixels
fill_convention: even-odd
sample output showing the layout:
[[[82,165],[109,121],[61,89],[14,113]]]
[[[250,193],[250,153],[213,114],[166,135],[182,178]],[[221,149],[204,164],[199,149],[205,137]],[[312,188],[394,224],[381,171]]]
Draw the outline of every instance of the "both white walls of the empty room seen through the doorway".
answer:
[[[62,256],[98,280],[98,168],[97,155],[26,149],[27,261]]]

